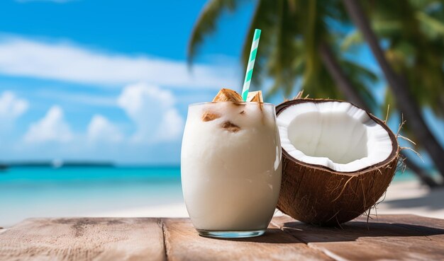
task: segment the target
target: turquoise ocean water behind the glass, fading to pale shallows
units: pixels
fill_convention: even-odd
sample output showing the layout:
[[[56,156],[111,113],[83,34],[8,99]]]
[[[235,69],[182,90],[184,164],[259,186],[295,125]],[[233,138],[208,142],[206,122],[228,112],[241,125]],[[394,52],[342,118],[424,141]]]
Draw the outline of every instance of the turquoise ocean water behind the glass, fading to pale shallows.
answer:
[[[398,173],[395,182],[413,178],[411,173]],[[87,216],[182,202],[178,166],[0,171],[0,226],[28,217]]]

